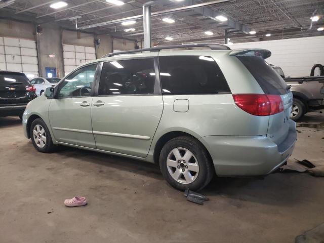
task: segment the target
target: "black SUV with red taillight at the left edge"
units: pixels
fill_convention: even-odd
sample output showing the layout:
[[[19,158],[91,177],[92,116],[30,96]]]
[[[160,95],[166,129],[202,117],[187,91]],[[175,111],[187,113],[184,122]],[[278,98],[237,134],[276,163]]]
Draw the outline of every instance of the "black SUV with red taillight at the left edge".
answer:
[[[0,116],[19,116],[29,101],[36,98],[36,89],[24,73],[0,71]]]

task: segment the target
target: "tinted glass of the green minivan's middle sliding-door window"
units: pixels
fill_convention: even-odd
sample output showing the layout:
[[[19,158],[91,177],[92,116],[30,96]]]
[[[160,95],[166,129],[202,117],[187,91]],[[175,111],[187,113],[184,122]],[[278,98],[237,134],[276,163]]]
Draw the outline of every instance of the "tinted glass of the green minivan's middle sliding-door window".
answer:
[[[105,62],[99,95],[153,94],[154,83],[153,58]]]

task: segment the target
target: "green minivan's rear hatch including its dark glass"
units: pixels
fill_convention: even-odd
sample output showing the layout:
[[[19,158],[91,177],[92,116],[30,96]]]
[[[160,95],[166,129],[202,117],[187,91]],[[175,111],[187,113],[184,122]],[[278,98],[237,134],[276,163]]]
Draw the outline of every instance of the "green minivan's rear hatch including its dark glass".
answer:
[[[253,51],[255,52],[255,51]],[[256,79],[264,94],[277,95],[281,97],[284,110],[269,115],[267,137],[276,144],[281,144],[288,136],[290,125],[289,117],[293,103],[293,95],[282,77],[264,61],[262,55],[237,55],[236,57],[250,71]],[[253,53],[252,53],[253,54]]]

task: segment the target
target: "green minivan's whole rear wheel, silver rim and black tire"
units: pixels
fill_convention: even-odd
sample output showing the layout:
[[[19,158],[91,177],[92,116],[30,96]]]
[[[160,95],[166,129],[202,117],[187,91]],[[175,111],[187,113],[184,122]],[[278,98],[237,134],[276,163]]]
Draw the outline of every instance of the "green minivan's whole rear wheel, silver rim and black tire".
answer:
[[[203,189],[215,174],[206,148],[189,136],[167,142],[160,152],[159,164],[167,182],[182,191]]]

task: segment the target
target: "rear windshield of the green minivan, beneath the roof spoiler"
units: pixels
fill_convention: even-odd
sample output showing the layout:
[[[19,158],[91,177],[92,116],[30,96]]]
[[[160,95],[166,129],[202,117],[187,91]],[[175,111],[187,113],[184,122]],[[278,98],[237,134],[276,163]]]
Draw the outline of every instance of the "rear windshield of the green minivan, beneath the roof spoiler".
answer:
[[[237,56],[257,80],[267,95],[284,95],[288,93],[287,84],[273,68],[261,57]]]

